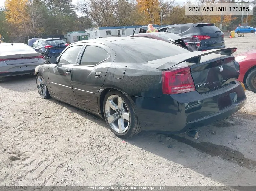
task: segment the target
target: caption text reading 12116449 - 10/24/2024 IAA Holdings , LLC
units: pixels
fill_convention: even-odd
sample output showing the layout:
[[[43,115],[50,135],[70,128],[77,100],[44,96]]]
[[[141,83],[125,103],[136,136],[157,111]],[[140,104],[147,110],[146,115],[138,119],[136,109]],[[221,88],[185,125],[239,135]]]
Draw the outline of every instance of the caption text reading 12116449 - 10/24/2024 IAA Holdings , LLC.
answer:
[[[165,190],[165,186],[88,186],[88,190]]]

